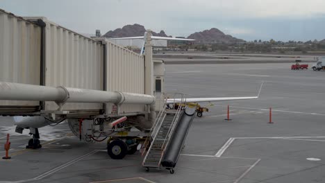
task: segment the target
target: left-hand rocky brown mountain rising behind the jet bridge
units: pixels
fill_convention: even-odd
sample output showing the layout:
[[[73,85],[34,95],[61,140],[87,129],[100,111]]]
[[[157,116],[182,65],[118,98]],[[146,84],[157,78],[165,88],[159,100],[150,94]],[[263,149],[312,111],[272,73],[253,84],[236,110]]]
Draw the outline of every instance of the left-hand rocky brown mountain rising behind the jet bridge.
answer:
[[[123,28],[117,28],[115,30],[108,31],[104,37],[133,37],[142,36],[146,29],[140,24],[126,25]],[[168,37],[164,30],[160,30],[160,33],[153,32],[154,36]]]

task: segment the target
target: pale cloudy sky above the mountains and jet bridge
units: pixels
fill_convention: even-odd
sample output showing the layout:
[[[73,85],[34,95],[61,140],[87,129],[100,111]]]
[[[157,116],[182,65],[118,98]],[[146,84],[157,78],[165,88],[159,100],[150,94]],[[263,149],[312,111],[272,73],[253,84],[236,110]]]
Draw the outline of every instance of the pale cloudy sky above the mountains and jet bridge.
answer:
[[[219,28],[244,40],[325,39],[324,0],[0,0],[0,8],[78,33],[137,23],[173,36]]]

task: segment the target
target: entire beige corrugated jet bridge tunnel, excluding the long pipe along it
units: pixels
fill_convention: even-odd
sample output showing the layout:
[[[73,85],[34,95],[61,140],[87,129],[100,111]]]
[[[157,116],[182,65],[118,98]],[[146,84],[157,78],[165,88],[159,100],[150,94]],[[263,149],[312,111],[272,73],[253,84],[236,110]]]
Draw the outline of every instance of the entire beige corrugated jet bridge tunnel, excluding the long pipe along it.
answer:
[[[81,35],[46,17],[19,17],[0,9],[0,19],[0,33],[3,37],[0,39],[0,82],[33,85],[43,91],[53,92],[49,99],[64,99],[53,98],[64,93],[63,88],[53,89],[58,86],[83,89],[83,92],[88,89],[97,93],[121,91],[128,93],[126,98],[130,97],[131,93],[153,96],[154,84],[148,81],[154,80],[153,65],[156,69],[156,64],[163,62],[153,61],[151,44],[146,45],[148,54],[144,58],[143,55],[113,44],[105,37],[91,38]],[[163,80],[163,75],[159,77]],[[40,94],[49,95],[50,93]],[[34,116],[58,109],[54,100],[42,101],[42,98],[37,98],[38,100],[32,101],[25,100],[22,96],[10,96],[10,100],[1,98],[0,115]],[[141,100],[140,103],[129,101],[117,106],[116,101],[93,103],[83,97],[76,101],[75,96],[70,96],[69,103],[61,106],[61,110],[69,114],[93,116],[118,116],[117,109],[121,113],[120,116],[142,115],[148,112]]]

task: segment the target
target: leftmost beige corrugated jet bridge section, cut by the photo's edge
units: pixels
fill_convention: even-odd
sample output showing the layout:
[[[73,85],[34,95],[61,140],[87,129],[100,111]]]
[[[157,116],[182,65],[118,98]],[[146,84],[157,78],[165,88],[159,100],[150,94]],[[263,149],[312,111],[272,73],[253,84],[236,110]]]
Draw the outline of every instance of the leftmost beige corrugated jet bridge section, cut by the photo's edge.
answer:
[[[40,85],[41,28],[0,9],[0,80]],[[0,106],[38,106],[38,101],[0,101]]]

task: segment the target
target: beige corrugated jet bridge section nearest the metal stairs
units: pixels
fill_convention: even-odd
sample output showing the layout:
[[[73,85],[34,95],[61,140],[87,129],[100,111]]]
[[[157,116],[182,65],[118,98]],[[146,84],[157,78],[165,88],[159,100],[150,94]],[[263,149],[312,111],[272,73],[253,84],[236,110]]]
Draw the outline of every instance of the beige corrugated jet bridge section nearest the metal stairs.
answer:
[[[144,94],[144,58],[106,40],[107,90]],[[108,105],[108,114],[114,113]],[[143,112],[144,105],[122,105],[120,112]]]

